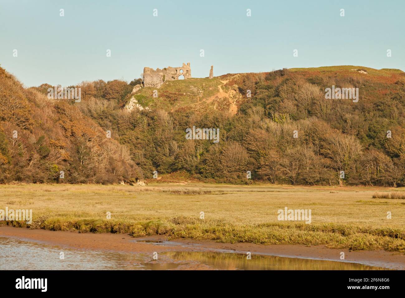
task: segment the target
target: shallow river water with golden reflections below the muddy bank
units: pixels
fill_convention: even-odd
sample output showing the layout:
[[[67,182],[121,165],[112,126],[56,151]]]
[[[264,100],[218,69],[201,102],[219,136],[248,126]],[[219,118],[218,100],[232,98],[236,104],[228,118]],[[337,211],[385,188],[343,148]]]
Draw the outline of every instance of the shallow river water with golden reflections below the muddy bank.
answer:
[[[152,244],[151,244],[152,245]],[[64,259],[60,259],[60,252]],[[151,254],[84,251],[0,237],[0,270],[382,270],[361,264],[252,254],[169,251]]]

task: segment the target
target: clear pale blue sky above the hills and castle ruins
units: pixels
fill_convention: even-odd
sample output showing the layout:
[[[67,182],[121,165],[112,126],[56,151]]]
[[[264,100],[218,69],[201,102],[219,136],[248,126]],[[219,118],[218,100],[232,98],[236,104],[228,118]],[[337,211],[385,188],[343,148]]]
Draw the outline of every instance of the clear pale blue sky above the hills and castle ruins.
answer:
[[[214,75],[329,65],[405,70],[404,13],[404,0],[0,0],[0,64],[25,86],[130,81],[144,66],[183,62],[193,77],[207,77],[211,64]]]

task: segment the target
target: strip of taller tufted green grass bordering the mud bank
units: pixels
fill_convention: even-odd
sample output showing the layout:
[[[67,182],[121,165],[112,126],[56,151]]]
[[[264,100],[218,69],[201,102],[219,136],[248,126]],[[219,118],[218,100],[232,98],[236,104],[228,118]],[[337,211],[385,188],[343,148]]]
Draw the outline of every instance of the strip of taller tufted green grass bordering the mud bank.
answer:
[[[165,220],[130,221],[78,220],[43,217],[31,225],[20,221],[6,221],[15,227],[41,228],[52,231],[76,230],[80,233],[129,233],[133,237],[166,235],[172,238],[217,240],[220,242],[248,242],[255,244],[327,244],[331,248],[350,250],[399,251],[405,253],[405,229],[372,228],[354,225],[322,223],[264,223],[235,225],[219,220],[200,220],[173,217]]]

